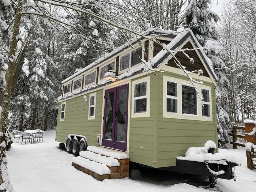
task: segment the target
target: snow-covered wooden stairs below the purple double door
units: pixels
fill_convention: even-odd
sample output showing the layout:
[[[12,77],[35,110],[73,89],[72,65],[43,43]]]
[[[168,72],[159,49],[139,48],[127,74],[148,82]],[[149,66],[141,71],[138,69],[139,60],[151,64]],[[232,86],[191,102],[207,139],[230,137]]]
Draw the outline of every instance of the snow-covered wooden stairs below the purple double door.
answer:
[[[72,166],[99,181],[129,177],[128,155],[101,147],[88,146],[72,159]]]

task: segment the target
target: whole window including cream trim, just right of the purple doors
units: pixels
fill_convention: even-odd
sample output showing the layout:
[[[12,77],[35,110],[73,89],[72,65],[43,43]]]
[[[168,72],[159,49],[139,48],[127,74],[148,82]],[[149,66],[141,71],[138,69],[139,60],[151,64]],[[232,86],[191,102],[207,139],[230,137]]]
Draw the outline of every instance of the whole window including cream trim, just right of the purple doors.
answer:
[[[150,117],[150,76],[132,82],[131,117]]]

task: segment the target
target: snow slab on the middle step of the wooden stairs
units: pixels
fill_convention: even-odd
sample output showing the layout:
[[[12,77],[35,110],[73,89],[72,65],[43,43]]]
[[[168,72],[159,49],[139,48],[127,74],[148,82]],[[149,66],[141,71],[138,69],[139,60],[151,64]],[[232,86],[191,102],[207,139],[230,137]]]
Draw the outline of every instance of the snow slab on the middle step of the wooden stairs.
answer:
[[[114,159],[113,157],[102,156],[100,154],[96,154],[91,151],[80,151],[79,155],[83,158],[90,159],[91,161],[105,164],[109,167],[116,167],[116,166],[120,165],[120,163],[117,161],[117,159]]]

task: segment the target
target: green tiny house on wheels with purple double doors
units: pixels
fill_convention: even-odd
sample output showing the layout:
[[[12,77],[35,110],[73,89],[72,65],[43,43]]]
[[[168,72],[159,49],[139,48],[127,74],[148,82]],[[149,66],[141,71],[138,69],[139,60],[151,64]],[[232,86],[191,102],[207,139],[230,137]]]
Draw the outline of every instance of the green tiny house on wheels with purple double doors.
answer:
[[[217,77],[192,31],[142,34],[62,81],[57,142],[80,135],[155,168],[176,166],[189,147],[218,143]],[[203,84],[192,86],[177,60],[203,71],[189,74]]]

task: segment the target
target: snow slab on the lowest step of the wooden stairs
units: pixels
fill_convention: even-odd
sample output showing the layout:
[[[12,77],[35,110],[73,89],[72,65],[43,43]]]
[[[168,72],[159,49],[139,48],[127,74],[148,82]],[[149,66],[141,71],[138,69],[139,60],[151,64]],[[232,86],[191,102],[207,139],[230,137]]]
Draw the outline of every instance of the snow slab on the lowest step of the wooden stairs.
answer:
[[[111,171],[109,167],[107,167],[104,164],[97,163],[95,161],[90,161],[89,159],[83,158],[83,157],[73,157],[72,162],[76,163],[77,165],[80,165],[86,169],[89,169],[99,175],[107,175],[110,174]]]

